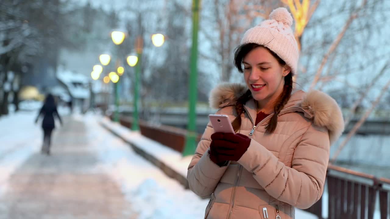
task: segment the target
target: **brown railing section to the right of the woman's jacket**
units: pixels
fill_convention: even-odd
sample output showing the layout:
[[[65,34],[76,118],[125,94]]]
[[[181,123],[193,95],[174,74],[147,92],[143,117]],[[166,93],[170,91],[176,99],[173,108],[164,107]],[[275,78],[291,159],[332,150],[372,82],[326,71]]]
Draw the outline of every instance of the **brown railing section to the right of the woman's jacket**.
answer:
[[[372,175],[330,164],[326,181],[328,188],[328,219],[374,218],[378,192],[380,217],[381,219],[389,217],[389,190],[384,186],[390,185],[390,180],[378,179]],[[323,198],[306,211],[323,218],[322,201]]]

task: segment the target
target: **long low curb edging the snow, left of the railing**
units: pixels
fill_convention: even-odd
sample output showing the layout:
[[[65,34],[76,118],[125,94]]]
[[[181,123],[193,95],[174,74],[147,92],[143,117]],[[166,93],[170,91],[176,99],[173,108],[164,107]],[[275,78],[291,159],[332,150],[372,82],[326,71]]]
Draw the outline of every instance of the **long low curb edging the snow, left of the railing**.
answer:
[[[164,162],[161,162],[159,159],[154,157],[153,155],[147,153],[145,150],[142,150],[142,148],[138,147],[137,144],[126,140],[121,135],[110,129],[110,127],[106,126],[103,122],[99,122],[102,127],[110,131],[115,136],[121,138],[124,142],[128,143],[128,145],[133,148],[134,152],[136,152],[138,155],[146,159],[147,161],[154,164],[154,166],[160,168],[161,171],[163,171],[168,177],[175,179],[177,182],[179,182],[181,185],[184,186],[184,189],[189,189],[187,178],[178,173],[176,170],[170,168],[167,164]]]

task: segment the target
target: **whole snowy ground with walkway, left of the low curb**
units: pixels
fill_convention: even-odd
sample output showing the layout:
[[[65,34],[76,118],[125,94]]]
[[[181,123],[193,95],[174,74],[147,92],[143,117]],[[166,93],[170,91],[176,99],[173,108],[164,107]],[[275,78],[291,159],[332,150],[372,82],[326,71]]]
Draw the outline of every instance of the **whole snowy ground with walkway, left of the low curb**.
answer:
[[[41,155],[36,113],[0,117],[0,219],[203,218],[209,200],[137,155],[99,115],[64,117],[52,155]]]

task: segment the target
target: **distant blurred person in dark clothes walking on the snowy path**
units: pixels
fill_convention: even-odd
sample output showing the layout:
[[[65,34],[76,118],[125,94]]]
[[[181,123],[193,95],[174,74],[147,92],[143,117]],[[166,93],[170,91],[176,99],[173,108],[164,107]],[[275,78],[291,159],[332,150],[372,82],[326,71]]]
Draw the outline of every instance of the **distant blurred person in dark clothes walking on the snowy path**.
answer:
[[[43,115],[42,129],[43,129],[43,144],[41,152],[47,155],[50,155],[50,143],[51,143],[51,132],[53,131],[54,124],[54,115],[58,117],[62,125],[62,120],[57,111],[57,105],[55,104],[54,97],[51,94],[46,96],[45,102],[39,111],[35,123],[38,122],[40,115]]]

